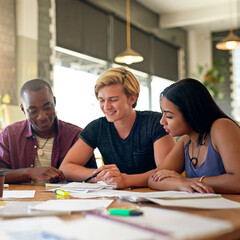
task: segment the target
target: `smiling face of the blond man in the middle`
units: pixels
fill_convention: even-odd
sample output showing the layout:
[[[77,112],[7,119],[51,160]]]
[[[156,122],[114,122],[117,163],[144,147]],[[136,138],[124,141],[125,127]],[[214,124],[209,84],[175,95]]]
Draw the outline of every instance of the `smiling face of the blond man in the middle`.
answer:
[[[134,112],[132,105],[136,102],[136,96],[127,98],[121,84],[113,84],[100,88],[98,100],[107,120],[117,122],[127,120]]]

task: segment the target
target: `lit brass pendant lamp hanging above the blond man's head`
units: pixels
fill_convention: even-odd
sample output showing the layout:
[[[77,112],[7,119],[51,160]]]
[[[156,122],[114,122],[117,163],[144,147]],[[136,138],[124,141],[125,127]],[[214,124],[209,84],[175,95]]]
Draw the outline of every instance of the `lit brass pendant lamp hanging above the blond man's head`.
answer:
[[[127,32],[127,49],[115,57],[115,62],[132,64],[143,61],[143,57],[131,49],[131,33],[130,33],[130,0],[126,0],[126,32]]]

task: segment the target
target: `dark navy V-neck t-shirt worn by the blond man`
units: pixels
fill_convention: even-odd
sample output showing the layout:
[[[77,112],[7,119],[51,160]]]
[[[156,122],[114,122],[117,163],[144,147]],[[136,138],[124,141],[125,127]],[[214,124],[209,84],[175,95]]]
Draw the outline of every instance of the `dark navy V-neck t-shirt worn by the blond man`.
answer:
[[[156,168],[153,144],[165,136],[160,125],[161,113],[136,111],[136,120],[126,139],[122,139],[112,122],[105,117],[89,123],[81,139],[92,148],[98,148],[104,164],[116,164],[121,173],[138,174]]]

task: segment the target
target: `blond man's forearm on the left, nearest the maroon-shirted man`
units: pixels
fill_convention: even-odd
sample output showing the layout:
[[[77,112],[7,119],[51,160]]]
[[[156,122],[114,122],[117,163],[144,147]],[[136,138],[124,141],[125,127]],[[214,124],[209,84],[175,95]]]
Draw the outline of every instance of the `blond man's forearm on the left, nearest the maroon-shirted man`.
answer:
[[[76,182],[84,181],[93,174],[94,170],[96,170],[85,168],[75,163],[62,163],[59,169],[63,172],[68,181]]]

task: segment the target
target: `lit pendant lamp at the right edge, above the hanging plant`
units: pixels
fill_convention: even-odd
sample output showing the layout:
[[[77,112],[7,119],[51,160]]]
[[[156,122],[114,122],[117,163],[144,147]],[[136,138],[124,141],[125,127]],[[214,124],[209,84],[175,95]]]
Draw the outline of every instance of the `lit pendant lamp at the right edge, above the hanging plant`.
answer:
[[[230,30],[229,34],[221,41],[216,44],[216,48],[219,50],[233,50],[237,47],[240,47],[240,37],[236,36],[233,33],[232,29],[232,17],[231,17],[231,12],[232,12],[232,4],[231,0],[229,0],[229,8],[230,8]]]

